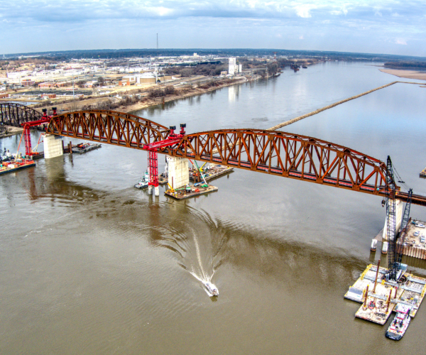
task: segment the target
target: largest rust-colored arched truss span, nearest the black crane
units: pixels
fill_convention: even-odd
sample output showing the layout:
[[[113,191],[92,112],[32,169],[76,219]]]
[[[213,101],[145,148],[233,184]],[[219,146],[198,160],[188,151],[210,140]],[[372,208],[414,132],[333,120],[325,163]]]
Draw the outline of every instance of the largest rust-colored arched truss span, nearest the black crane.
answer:
[[[350,148],[281,131],[231,129],[185,136],[164,153],[323,185],[386,194],[386,164]]]

